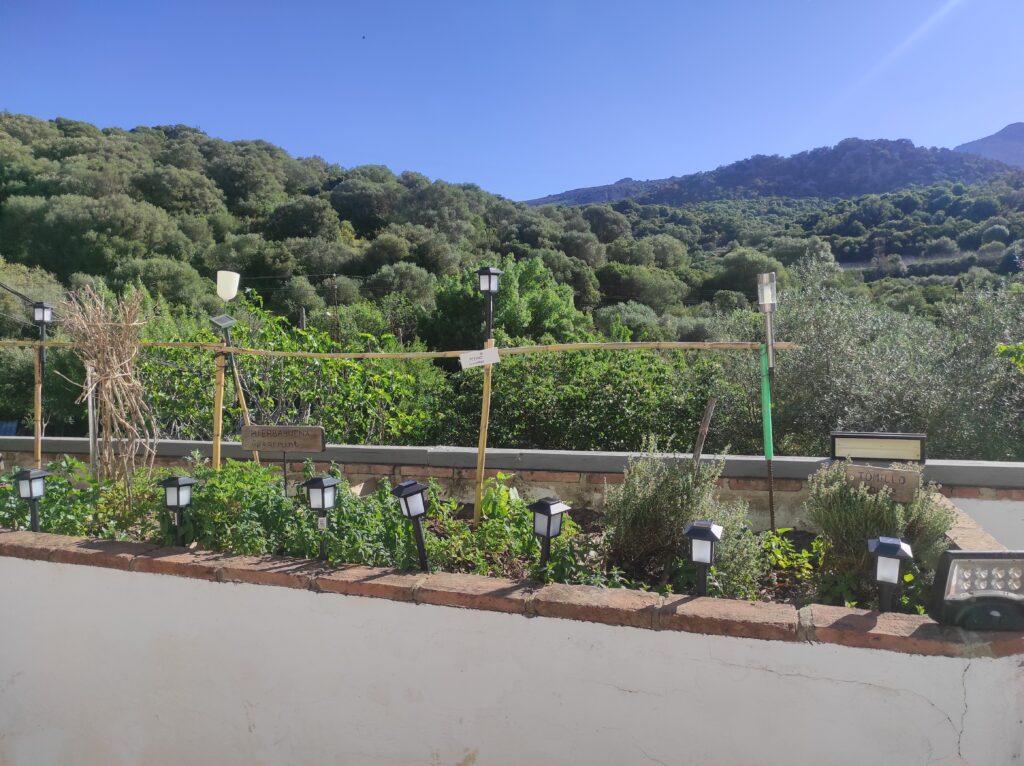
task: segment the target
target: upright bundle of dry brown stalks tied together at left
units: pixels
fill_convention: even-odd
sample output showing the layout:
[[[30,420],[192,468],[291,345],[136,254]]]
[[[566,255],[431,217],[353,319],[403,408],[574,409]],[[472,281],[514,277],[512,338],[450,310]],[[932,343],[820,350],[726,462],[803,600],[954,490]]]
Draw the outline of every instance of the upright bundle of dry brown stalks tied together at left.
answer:
[[[75,353],[93,371],[83,385],[82,402],[95,392],[99,425],[97,478],[129,479],[138,465],[153,466],[157,421],[135,376],[141,345],[142,296],[129,293],[113,306],[86,286],[63,305],[63,329]]]

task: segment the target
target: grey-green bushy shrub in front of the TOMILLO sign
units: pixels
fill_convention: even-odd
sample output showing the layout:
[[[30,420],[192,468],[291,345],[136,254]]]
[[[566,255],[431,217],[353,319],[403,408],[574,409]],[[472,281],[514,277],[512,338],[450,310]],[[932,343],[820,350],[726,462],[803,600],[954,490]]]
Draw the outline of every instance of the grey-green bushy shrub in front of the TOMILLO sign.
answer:
[[[842,595],[846,601],[870,600],[874,578],[867,541],[880,536],[907,541],[922,578],[927,581],[932,577],[953,523],[952,511],[936,501],[934,484],[918,490],[912,502],[898,503],[888,487],[874,493],[863,484],[852,485],[846,480],[845,464],[837,462],[819,469],[808,490],[805,508],[821,529],[826,546],[822,595]]]

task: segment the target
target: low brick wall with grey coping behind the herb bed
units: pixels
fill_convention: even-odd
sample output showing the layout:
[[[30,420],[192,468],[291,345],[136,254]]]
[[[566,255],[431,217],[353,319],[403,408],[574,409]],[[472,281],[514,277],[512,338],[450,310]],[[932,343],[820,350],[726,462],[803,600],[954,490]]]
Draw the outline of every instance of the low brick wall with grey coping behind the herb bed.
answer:
[[[44,460],[72,455],[85,459],[88,442],[80,438],[46,438]],[[162,441],[158,465],[174,466],[194,453],[209,456],[209,441]],[[237,442],[224,442],[225,459],[249,460],[251,454]],[[268,465],[281,465],[281,456],[262,455]],[[408,478],[436,478],[444,490],[462,502],[473,501],[476,479],[476,451],[458,446],[371,446],[330,444],[322,455],[288,456],[288,470],[293,478],[302,473],[302,460],[314,460],[318,470],[334,464],[352,484],[387,478],[396,483]],[[542,450],[488,450],[485,475],[499,471],[514,474],[512,479],[523,497],[555,495],[575,507],[601,510],[607,487],[623,480],[631,453],[592,453]],[[688,455],[666,455],[675,460]],[[32,463],[32,438],[0,436],[0,459],[8,466]],[[755,528],[769,526],[768,481],[765,461],[756,456],[707,456],[707,462],[723,463],[720,480],[725,500],[744,501],[751,509]],[[773,463],[775,479],[775,516],[778,526],[812,528],[803,517],[807,499],[806,482],[824,458],[783,457]],[[1024,463],[982,461],[929,461],[925,478],[941,485],[951,498],[1024,500]]]

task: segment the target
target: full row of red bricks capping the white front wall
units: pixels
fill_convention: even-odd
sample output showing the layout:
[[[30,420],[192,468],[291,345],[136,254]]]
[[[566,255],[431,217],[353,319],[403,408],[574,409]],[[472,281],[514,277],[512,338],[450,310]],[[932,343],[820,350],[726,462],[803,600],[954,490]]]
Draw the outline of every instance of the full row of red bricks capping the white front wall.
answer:
[[[788,604],[662,596],[586,585],[552,584],[538,588],[526,582],[476,574],[326,566],[283,556],[239,556],[3,529],[0,529],[0,556],[655,631],[829,643],[933,656],[1024,654],[1024,633],[972,633],[916,614],[821,604],[798,610]]]

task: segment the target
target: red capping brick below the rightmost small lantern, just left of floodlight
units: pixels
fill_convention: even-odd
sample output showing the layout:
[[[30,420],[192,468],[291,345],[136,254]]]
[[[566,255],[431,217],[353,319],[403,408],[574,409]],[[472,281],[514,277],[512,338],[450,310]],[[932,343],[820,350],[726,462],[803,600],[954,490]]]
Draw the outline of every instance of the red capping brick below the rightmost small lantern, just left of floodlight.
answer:
[[[936,656],[974,653],[963,631],[923,614],[812,604],[801,611],[801,627],[811,641],[842,646]]]

